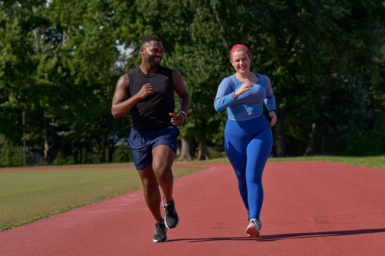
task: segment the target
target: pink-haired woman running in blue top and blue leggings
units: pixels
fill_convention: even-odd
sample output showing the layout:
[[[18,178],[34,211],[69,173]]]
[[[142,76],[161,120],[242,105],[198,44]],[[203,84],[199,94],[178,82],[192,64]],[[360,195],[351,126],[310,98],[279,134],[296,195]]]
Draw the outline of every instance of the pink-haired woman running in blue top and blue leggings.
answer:
[[[219,84],[214,101],[216,111],[227,108],[225,152],[238,178],[238,187],[249,216],[246,233],[259,237],[263,201],[262,172],[273,146],[270,127],[276,120],[276,103],[267,76],[250,71],[252,56],[244,45],[230,50],[236,73]],[[272,121],[263,115],[265,102]]]

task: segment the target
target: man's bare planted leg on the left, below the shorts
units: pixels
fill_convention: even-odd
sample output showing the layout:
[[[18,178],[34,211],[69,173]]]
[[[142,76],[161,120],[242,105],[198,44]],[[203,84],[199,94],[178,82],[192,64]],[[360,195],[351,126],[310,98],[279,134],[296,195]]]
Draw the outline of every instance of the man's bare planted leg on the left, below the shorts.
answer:
[[[160,210],[161,195],[159,184],[151,164],[142,170],[138,170],[138,173],[142,180],[144,199],[146,200],[147,207],[151,211],[155,221],[163,223],[164,220]]]

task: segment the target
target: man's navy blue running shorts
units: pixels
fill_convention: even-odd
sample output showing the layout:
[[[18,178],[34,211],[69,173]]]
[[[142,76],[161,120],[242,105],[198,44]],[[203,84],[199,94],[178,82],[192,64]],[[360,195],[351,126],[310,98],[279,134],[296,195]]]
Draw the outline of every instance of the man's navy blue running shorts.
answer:
[[[152,163],[152,150],[156,146],[166,145],[176,154],[179,134],[178,128],[174,125],[151,132],[131,129],[128,144],[137,170],[143,170]]]

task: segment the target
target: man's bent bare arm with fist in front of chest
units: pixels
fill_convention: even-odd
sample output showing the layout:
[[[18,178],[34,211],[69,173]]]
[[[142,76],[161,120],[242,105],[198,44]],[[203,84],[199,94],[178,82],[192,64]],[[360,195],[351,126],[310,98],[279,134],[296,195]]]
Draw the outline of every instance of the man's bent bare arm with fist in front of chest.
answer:
[[[146,83],[137,94],[129,97],[129,86],[128,75],[122,75],[118,80],[112,99],[111,112],[114,118],[126,115],[139,100],[144,99],[149,94],[153,94],[151,83]]]

